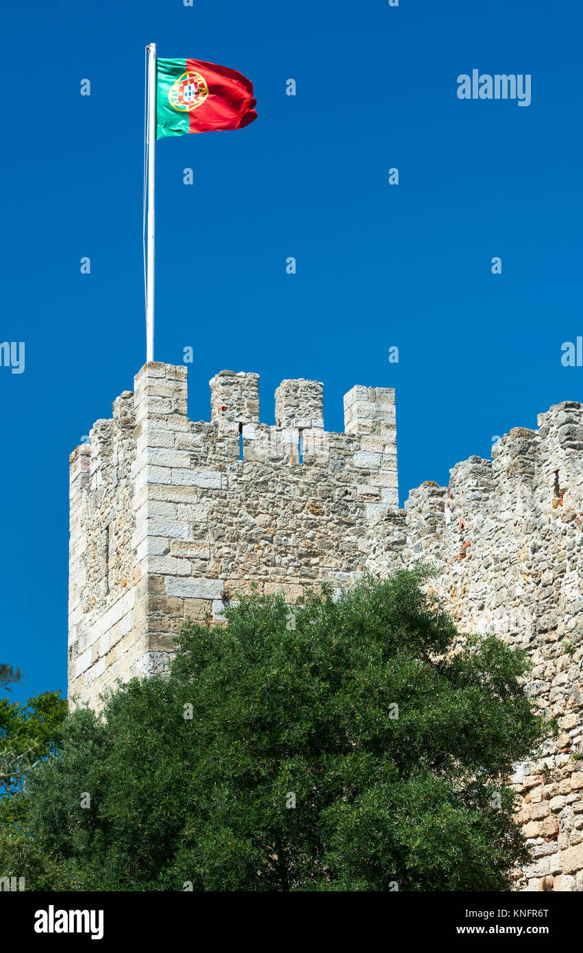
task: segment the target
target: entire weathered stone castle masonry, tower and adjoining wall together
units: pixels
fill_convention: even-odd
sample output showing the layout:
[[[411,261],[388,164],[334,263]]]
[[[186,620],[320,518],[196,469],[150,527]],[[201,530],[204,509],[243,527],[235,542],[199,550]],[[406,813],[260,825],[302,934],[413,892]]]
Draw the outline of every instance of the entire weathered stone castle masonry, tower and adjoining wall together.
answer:
[[[525,646],[528,690],[559,720],[516,765],[533,853],[516,885],[583,890],[582,405],[552,407],[399,510],[391,389],[352,388],[331,434],[317,381],[283,381],[269,427],[257,375],[213,377],[206,423],[187,416],[186,374],[147,364],[71,455],[70,697],[97,708],[115,679],[163,670],[182,620],[220,618],[251,581],[292,602],[429,558],[462,638]]]

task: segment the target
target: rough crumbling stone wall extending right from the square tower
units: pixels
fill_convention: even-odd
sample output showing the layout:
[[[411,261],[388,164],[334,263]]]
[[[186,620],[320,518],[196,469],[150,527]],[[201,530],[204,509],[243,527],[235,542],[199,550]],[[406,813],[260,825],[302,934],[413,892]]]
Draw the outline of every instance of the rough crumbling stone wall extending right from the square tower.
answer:
[[[498,440],[492,461],[456,464],[448,488],[413,490],[371,535],[373,573],[426,558],[460,633],[524,647],[535,707],[558,719],[558,738],[515,766],[516,820],[533,854],[519,889],[583,890],[582,451],[581,404],[558,404],[538,417],[538,430]]]

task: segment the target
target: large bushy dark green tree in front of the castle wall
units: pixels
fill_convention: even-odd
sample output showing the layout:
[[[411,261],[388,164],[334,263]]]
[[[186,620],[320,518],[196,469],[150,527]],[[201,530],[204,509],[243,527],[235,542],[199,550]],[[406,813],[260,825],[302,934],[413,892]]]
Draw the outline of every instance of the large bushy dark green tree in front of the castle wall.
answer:
[[[0,866],[18,849],[37,889],[509,889],[528,852],[507,779],[551,725],[522,652],[453,653],[424,578],[186,623],[170,678],[70,715]]]

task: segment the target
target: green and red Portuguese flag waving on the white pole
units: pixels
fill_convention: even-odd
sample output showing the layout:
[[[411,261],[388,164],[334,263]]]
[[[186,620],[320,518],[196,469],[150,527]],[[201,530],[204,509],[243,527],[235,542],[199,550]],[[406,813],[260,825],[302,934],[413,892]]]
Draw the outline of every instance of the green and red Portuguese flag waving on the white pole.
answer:
[[[156,139],[243,129],[257,118],[253,84],[202,60],[156,60]]]

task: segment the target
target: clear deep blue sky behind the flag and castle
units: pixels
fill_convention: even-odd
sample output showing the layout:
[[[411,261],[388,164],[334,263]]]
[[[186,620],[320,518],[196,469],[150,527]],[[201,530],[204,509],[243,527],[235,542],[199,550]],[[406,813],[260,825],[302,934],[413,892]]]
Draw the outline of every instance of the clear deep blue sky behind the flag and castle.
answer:
[[[191,418],[223,368],[261,375],[266,423],[280,380],[324,381],[335,431],[353,384],[394,387],[403,501],[582,397],[560,361],[583,335],[581,5],[5,0],[1,17],[0,341],[26,343],[24,374],[0,367],[0,660],[28,673],[12,698],[66,690],[69,455],[145,360],[150,41],[242,71],[258,102],[241,132],[157,148],[156,357],[194,348]],[[532,104],[459,100],[472,69],[530,73]]]

